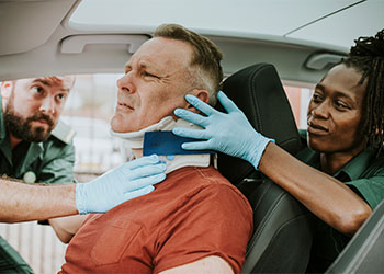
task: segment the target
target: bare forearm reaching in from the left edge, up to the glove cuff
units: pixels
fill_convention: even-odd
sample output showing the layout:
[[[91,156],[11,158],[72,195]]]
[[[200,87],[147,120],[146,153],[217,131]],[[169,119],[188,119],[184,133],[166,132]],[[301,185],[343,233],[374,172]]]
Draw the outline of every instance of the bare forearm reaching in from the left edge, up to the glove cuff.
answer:
[[[76,185],[27,184],[0,179],[0,221],[16,222],[78,214]]]

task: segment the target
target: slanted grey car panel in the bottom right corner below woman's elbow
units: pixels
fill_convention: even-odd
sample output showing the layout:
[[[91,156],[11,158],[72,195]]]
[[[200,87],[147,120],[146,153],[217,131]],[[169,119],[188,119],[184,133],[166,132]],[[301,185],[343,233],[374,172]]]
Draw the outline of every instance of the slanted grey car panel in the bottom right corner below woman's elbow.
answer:
[[[384,201],[326,273],[384,273]]]

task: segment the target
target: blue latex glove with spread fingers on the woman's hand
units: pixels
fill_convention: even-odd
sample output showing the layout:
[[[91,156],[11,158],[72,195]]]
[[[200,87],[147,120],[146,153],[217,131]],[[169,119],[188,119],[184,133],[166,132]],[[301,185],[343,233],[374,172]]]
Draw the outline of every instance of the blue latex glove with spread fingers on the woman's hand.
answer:
[[[206,116],[189,112],[183,109],[174,110],[180,118],[192,122],[205,129],[173,128],[173,134],[181,137],[205,139],[195,142],[184,142],[183,149],[200,150],[213,149],[226,155],[241,158],[258,169],[261,156],[270,141],[256,132],[248,122],[246,115],[228,99],[224,92],[217,94],[227,113],[222,113],[199,100],[193,95],[187,95],[185,100]]]

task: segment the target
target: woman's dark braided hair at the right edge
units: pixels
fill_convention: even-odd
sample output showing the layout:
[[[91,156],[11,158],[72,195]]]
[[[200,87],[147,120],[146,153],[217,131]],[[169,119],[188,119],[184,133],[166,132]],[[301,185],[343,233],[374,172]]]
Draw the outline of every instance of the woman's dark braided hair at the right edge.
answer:
[[[354,42],[342,64],[362,73],[360,84],[368,81],[363,133],[368,145],[381,150],[384,146],[384,30],[374,37],[359,37]]]

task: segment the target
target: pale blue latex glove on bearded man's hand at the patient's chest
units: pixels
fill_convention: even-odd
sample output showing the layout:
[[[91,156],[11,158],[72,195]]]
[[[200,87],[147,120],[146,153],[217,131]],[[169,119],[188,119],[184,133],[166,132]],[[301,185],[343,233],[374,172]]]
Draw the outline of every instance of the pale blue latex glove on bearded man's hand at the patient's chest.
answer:
[[[133,160],[88,183],[76,184],[79,214],[104,213],[125,201],[148,194],[166,179],[167,167],[157,155]]]

